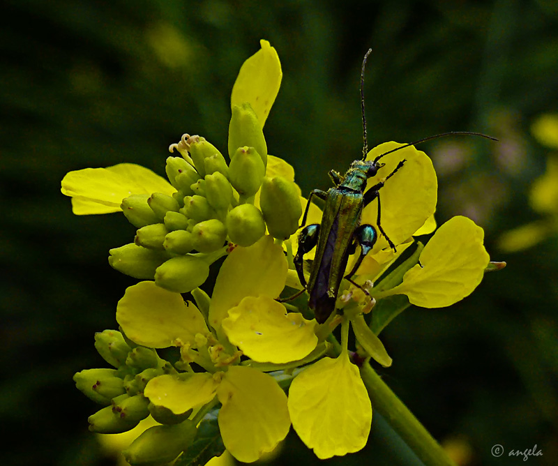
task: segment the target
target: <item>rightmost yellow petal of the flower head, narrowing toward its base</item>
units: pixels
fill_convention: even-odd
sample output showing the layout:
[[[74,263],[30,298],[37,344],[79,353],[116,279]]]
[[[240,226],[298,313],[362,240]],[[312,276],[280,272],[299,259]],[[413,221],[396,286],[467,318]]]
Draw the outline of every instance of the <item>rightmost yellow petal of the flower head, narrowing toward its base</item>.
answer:
[[[403,283],[386,295],[407,294],[412,304],[423,308],[443,308],[460,301],[481,283],[490,260],[483,238],[483,229],[473,220],[451,218],[424,247],[421,264],[407,271]]]

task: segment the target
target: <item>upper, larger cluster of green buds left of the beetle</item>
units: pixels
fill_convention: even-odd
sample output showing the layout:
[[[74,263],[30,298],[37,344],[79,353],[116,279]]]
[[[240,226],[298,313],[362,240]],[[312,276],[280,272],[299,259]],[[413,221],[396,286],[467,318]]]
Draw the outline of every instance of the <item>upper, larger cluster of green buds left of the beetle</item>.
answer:
[[[287,239],[298,228],[296,185],[266,176],[266,140],[250,104],[232,108],[228,165],[204,137],[183,135],[169,147],[175,149],[181,157],[167,158],[165,168],[176,189],[172,196],[130,195],[122,201],[137,233],[134,243],[110,250],[114,269],[186,293],[204,283],[228,242],[248,247],[266,230]]]

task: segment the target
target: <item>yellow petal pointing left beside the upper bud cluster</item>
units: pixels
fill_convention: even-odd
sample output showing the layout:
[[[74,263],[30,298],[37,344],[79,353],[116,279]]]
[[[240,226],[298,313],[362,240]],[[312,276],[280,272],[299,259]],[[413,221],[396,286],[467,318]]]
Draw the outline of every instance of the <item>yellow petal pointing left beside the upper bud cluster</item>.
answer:
[[[76,215],[121,211],[122,200],[131,194],[176,192],[162,176],[133,163],[68,172],[61,184],[62,194],[73,198]]]

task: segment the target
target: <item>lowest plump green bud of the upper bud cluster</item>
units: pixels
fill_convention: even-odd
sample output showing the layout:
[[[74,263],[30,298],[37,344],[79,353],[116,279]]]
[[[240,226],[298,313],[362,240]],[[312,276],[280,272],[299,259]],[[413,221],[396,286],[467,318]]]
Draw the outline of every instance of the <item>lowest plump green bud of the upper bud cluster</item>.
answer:
[[[202,285],[209,276],[209,265],[193,255],[167,260],[155,272],[155,283],[165,290],[188,293]]]

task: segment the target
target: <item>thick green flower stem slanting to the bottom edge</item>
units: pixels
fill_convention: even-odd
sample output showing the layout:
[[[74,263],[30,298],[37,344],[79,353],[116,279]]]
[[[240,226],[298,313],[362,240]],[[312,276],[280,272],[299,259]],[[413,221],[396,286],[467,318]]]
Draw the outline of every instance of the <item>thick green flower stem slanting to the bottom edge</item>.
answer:
[[[414,414],[391,391],[384,381],[365,363],[361,377],[376,409],[426,466],[455,466],[442,446],[428,433]]]

